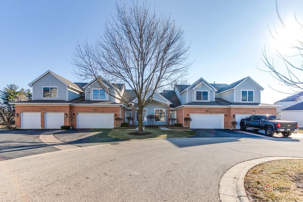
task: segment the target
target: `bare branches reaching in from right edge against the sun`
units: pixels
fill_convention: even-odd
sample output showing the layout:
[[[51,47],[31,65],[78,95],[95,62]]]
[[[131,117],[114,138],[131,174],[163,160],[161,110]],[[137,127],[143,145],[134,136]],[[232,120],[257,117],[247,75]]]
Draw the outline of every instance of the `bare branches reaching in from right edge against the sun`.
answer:
[[[277,11],[277,15],[280,20],[280,23],[281,23],[280,28],[289,29],[288,26],[285,25],[285,23],[282,21],[282,19],[280,17],[280,14],[278,12],[277,0],[276,0],[276,11]],[[295,15],[295,13],[294,13],[294,15]],[[302,55],[301,51],[303,50],[303,40],[302,40],[303,25],[298,21],[298,19],[296,18],[296,15],[295,15],[295,21],[296,21],[296,23],[298,25],[298,29],[300,31],[299,32],[300,35],[298,36],[298,38],[296,38],[295,43],[291,43],[291,44],[287,44],[287,45],[283,44],[281,41],[281,38],[279,37],[280,36],[279,31],[277,31],[275,28],[273,31],[271,31],[271,29],[269,29],[271,36],[276,41],[278,41],[281,45],[287,46],[287,48],[290,48],[290,49],[298,50],[298,54],[286,56],[286,55],[282,54],[280,51],[278,51],[277,49],[275,49],[277,52],[278,58],[281,59],[283,64],[285,65],[285,70],[280,71],[280,70],[278,70],[278,68],[275,68],[274,61],[268,60],[265,48],[264,48],[264,50],[262,50],[263,57],[264,57],[264,58],[262,58],[262,61],[264,62],[266,67],[269,69],[266,71],[270,72],[270,74],[272,76],[274,76],[278,81],[280,81],[283,85],[287,85],[287,86],[291,87],[292,89],[297,89],[295,91],[301,91],[301,90],[303,90],[303,79],[302,79],[303,62],[300,62],[300,64],[298,64],[298,65],[294,65],[293,62],[291,61],[291,58],[293,59],[295,57],[300,57],[300,61],[302,61],[303,55]],[[265,71],[265,70],[262,70],[262,71]],[[293,94],[293,93],[289,93],[289,94]]]

